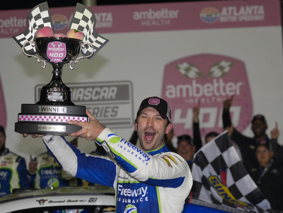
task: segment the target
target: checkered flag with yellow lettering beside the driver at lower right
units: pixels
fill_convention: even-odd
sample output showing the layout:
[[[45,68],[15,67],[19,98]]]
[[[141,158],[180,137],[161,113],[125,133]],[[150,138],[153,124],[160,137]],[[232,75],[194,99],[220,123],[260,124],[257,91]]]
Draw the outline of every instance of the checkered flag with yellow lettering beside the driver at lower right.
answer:
[[[271,208],[244,168],[227,131],[194,155],[192,178],[196,199],[252,212]]]

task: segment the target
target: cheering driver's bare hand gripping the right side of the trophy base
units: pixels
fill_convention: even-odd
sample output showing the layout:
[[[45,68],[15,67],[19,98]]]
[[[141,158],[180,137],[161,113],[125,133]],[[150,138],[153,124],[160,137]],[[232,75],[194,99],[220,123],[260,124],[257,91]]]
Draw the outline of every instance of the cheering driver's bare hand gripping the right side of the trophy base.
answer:
[[[70,133],[69,136],[81,137],[87,140],[95,140],[97,136],[105,129],[105,126],[103,126],[95,117],[93,117],[88,109],[85,110],[85,113],[89,117],[88,122],[68,121],[68,124],[75,124],[82,127],[81,130],[75,133]]]

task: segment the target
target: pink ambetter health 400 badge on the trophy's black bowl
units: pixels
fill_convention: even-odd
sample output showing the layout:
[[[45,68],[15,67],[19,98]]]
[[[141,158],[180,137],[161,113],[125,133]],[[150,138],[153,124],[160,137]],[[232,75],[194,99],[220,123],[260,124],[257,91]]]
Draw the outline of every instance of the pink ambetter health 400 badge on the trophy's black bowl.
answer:
[[[52,41],[47,45],[46,56],[50,62],[58,63],[66,57],[66,44],[60,41]]]

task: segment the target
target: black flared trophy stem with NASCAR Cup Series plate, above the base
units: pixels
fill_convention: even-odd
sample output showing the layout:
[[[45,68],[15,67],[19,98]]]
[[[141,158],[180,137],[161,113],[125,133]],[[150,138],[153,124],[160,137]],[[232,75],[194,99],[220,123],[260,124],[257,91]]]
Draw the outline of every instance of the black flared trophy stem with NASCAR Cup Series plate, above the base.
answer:
[[[61,63],[51,63],[53,66],[52,79],[40,91],[40,100],[37,104],[54,105],[75,105],[72,103],[72,92],[62,82],[63,65]]]

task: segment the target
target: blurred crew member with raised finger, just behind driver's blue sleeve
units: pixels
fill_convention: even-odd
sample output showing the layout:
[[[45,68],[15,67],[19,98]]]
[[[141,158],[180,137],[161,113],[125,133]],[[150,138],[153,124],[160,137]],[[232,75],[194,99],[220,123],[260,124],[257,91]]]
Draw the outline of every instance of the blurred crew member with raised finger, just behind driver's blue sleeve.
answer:
[[[70,143],[77,147],[78,138],[76,137]],[[30,188],[82,186],[82,180],[62,170],[50,152],[44,152],[34,159],[30,155],[29,175],[31,176]]]

